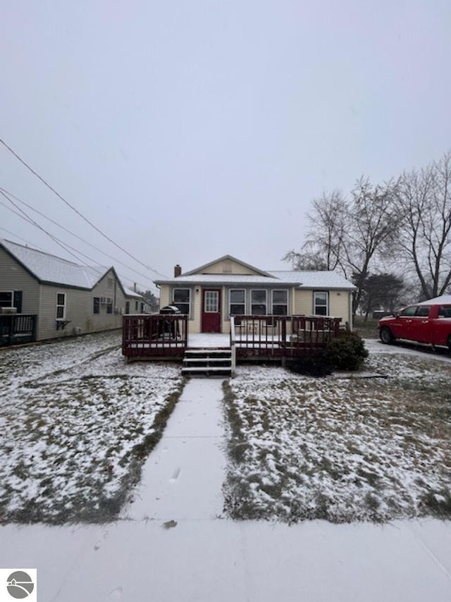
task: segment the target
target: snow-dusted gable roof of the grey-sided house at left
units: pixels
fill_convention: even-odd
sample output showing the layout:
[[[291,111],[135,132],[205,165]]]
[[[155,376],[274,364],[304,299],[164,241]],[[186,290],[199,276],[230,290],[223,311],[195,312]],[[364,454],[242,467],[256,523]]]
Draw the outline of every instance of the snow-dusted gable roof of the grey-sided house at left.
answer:
[[[23,268],[42,284],[64,285],[92,290],[94,286],[113,270],[119,285],[124,290],[113,266],[80,266],[32,247],[18,245],[11,240],[0,239],[0,246],[18,261]],[[130,295],[129,295],[130,296]]]

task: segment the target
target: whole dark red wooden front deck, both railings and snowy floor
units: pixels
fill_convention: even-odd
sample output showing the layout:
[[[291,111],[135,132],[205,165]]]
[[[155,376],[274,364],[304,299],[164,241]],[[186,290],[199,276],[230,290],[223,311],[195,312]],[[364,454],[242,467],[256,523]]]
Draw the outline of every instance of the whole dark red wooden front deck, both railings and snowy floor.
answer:
[[[233,363],[281,361],[317,355],[340,330],[340,318],[233,316],[228,334],[189,334],[186,315],[123,317],[123,355],[130,359],[182,359],[186,350],[230,349]]]

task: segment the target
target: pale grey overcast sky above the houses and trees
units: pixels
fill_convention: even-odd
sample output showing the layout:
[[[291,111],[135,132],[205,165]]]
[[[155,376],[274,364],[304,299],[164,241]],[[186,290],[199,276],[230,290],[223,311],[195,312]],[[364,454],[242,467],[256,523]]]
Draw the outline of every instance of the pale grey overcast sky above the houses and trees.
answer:
[[[0,23],[1,139],[168,276],[227,253],[288,269],[323,190],[451,147],[449,0],[14,0]],[[142,275],[22,206],[80,263],[159,277],[2,146],[0,187]],[[0,237],[75,260],[2,203]]]

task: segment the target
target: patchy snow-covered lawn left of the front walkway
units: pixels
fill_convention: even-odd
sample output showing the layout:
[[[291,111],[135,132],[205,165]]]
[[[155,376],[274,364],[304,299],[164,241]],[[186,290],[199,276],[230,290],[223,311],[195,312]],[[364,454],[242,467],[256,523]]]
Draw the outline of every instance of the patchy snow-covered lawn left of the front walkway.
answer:
[[[180,394],[120,333],[0,351],[0,522],[111,520]]]

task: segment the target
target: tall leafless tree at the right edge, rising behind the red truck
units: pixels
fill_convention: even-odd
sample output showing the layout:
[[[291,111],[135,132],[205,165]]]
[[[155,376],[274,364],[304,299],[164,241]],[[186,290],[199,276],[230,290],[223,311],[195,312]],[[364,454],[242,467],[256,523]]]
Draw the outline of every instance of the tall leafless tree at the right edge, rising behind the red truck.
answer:
[[[443,295],[451,281],[451,152],[402,175],[395,248],[414,271],[425,299]]]

